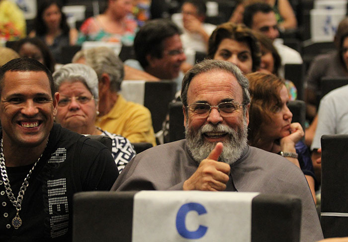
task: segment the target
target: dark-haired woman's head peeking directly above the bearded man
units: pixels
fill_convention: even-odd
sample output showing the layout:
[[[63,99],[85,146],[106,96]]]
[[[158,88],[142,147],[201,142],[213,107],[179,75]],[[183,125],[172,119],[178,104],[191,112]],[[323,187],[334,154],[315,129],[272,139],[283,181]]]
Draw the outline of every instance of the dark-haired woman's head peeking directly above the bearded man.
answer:
[[[252,30],[244,24],[223,23],[209,38],[208,58],[232,62],[248,74],[259,70],[260,44]]]

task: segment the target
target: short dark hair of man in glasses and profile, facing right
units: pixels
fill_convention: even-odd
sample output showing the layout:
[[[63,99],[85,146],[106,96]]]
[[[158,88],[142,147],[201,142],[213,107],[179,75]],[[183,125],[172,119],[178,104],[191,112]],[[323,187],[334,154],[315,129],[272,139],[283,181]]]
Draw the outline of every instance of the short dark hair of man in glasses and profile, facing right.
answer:
[[[154,19],[146,22],[139,29],[134,39],[135,56],[143,68],[149,66],[146,56],[163,57],[163,41],[175,34],[180,35],[180,29],[168,19]]]

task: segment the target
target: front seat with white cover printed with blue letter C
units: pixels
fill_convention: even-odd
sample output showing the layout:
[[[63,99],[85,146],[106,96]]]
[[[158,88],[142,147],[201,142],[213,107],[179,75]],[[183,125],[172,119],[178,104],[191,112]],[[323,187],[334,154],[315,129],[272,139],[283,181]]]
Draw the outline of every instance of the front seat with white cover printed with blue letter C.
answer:
[[[216,206],[221,203],[227,206]],[[188,218],[189,211],[198,216]],[[202,239],[220,235],[228,238],[219,241],[231,241],[231,231],[234,242],[299,242],[300,238],[301,200],[289,195],[92,191],[74,195],[73,213],[73,242],[192,241],[184,240],[181,232],[194,233],[195,229],[186,229],[193,224],[203,224],[196,227],[205,230],[198,235]],[[200,217],[207,219],[203,222]],[[229,231],[221,233],[223,226]],[[235,232],[236,228],[241,229]]]

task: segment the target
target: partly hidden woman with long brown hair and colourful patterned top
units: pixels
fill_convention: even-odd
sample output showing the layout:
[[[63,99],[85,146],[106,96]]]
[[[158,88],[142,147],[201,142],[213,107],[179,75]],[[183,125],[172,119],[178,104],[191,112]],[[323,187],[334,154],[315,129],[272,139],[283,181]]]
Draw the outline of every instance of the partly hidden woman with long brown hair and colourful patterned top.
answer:
[[[261,47],[260,71],[279,77],[279,72],[281,69],[281,57],[278,54],[278,51],[275,49],[272,41],[267,36],[260,32],[254,32],[254,34],[260,41]],[[283,71],[283,69],[281,70]],[[290,100],[295,100],[297,98],[297,88],[295,84],[289,80],[285,80],[284,82]]]

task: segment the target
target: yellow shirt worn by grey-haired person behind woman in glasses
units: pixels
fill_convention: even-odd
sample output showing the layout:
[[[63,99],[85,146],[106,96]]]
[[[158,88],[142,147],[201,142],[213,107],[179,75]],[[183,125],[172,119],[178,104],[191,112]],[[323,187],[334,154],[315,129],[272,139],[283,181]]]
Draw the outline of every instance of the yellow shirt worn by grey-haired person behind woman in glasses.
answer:
[[[106,115],[98,117],[95,125],[110,133],[122,135],[131,143],[146,142],[156,146],[149,109],[126,101],[120,94],[112,109]]]

